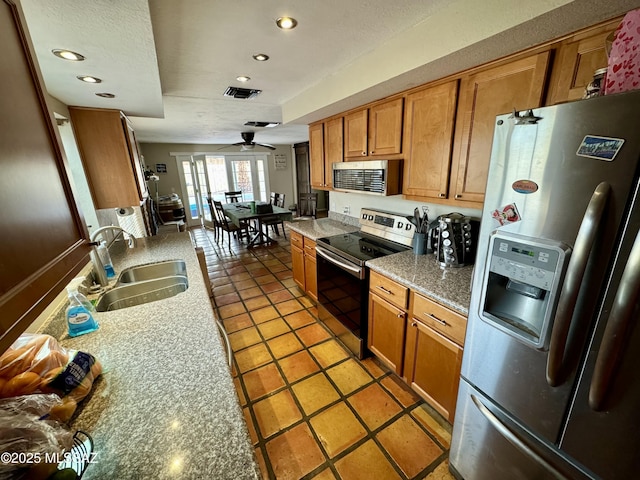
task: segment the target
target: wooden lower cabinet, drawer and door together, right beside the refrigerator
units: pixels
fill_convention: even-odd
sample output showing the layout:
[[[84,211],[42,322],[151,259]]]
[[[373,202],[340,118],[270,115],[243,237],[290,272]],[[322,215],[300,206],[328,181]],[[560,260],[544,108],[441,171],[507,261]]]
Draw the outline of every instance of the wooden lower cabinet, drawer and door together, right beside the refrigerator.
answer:
[[[411,292],[403,378],[453,423],[466,319]]]

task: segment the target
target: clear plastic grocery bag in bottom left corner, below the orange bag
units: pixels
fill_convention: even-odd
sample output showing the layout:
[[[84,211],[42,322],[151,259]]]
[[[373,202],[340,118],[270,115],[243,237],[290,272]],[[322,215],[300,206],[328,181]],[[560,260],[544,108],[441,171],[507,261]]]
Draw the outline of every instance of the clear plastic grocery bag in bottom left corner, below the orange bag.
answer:
[[[42,416],[60,403],[55,394],[0,400],[0,479],[45,479],[56,471],[73,434]]]

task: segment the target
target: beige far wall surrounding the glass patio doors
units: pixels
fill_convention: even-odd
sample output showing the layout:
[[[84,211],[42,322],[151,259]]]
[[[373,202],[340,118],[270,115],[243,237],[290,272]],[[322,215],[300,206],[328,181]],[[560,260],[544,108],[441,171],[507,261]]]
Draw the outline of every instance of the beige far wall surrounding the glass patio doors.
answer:
[[[290,145],[275,145],[271,151],[266,148],[256,147],[254,153],[267,153],[269,168],[269,189],[271,192],[285,194],[286,206],[294,202],[295,168]],[[225,145],[196,145],[183,143],[141,143],[140,149],[144,156],[144,164],[147,168],[158,172],[157,164],[165,164],[167,173],[157,173],[160,181],[157,182],[158,195],[180,194],[180,177],[175,157],[171,153],[210,153],[224,155],[225,153],[237,153],[240,147],[228,147]],[[252,153],[252,152],[245,152]],[[276,160],[284,160],[284,168],[276,168]],[[282,162],[280,162],[282,165]],[[149,192],[155,197],[156,183],[149,184]],[[268,195],[268,194],[267,194]]]

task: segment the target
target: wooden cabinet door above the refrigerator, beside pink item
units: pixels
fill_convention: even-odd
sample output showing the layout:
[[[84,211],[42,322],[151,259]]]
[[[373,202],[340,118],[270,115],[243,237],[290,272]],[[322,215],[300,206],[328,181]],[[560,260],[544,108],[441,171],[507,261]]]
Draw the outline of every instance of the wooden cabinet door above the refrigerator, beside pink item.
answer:
[[[577,33],[563,40],[551,69],[546,105],[578,100],[596,70],[607,67],[606,41],[622,17]]]

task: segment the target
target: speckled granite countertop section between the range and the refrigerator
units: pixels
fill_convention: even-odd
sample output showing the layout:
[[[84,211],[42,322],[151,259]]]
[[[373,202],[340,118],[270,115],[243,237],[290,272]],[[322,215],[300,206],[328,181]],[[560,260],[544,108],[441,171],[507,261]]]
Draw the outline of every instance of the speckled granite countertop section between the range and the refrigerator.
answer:
[[[369,260],[366,265],[464,316],[469,313],[473,266],[443,268],[434,255],[413,251]]]

